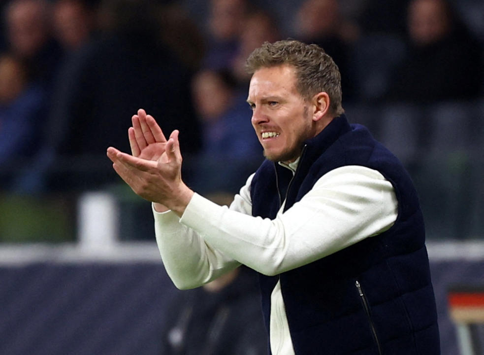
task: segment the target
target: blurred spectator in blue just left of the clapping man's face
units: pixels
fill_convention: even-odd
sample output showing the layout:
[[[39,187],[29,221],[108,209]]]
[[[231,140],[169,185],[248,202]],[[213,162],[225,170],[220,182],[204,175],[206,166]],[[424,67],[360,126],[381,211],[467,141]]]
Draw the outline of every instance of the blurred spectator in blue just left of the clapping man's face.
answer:
[[[261,161],[247,97],[223,70],[198,72],[192,88],[202,122],[202,150],[194,161],[193,184],[207,193],[236,192],[244,180],[241,171],[250,174]]]

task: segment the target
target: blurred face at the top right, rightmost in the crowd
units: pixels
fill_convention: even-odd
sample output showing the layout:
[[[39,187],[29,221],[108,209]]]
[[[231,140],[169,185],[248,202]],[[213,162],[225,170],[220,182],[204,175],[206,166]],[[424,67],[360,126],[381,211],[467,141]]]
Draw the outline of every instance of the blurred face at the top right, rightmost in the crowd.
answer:
[[[436,42],[449,32],[449,14],[442,0],[414,0],[409,5],[408,28],[418,45]]]

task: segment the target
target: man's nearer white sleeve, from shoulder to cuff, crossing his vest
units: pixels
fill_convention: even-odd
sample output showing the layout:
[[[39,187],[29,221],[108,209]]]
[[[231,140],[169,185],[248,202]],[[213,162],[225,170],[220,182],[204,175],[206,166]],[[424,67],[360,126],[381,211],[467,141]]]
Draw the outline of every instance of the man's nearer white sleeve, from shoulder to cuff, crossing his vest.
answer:
[[[273,220],[220,207],[195,193],[179,222],[197,232],[203,248],[277,275],[382,233],[397,213],[388,180],[366,167],[345,166],[325,174]]]

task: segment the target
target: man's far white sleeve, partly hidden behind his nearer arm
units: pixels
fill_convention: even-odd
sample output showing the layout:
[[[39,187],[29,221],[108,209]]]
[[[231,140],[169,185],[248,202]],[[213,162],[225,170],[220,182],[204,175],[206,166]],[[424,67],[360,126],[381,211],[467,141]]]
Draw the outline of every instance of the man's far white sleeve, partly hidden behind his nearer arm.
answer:
[[[238,214],[250,214],[250,176],[239,194],[236,194],[230,210]],[[206,200],[206,202],[210,202]],[[215,204],[214,204],[215,205]],[[227,209],[215,205],[221,210]],[[194,288],[206,284],[226,272],[238,267],[240,262],[230,255],[213,248],[201,234],[179,222],[178,216],[171,212],[159,213],[154,208],[155,235],[161,259],[166,272],[176,287]],[[204,218],[211,218],[210,215]]]

